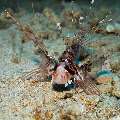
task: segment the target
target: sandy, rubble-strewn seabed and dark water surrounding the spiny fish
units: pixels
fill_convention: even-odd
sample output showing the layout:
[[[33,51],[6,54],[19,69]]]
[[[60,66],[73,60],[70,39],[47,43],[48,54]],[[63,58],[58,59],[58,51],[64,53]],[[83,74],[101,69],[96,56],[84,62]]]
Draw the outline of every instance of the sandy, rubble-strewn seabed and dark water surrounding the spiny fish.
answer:
[[[5,10],[28,25],[55,59],[78,39],[87,41],[79,62],[90,56],[89,74],[101,95],[57,92],[50,81],[37,80],[43,58]],[[119,0],[0,0],[0,13],[0,120],[120,120]],[[33,78],[22,79],[26,75]]]

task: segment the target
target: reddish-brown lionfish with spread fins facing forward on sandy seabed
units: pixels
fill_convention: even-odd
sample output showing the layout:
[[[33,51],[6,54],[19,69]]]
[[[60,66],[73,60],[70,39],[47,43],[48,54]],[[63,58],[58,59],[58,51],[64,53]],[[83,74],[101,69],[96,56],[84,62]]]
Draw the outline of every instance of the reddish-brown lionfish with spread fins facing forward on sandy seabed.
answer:
[[[13,20],[27,39],[33,41],[43,59],[38,69],[33,70],[22,78],[38,79],[43,82],[48,80],[48,77],[51,77],[53,89],[56,91],[80,87],[86,94],[100,95],[93,78],[88,73],[91,62],[88,60],[83,64],[79,64],[80,53],[84,43],[77,42],[72,44],[66,48],[58,60],[55,60],[52,56],[49,56],[43,41],[39,39],[29,26],[22,25],[9,10],[5,11],[5,16]]]

